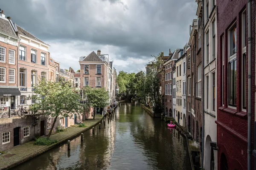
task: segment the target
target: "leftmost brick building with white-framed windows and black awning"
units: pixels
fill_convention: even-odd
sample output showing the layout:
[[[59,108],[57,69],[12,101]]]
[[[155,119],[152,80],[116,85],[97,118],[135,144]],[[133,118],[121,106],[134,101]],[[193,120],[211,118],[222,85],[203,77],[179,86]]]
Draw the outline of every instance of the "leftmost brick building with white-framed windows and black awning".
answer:
[[[0,109],[3,106],[15,107],[20,91],[17,87],[17,46],[11,17],[0,11]]]

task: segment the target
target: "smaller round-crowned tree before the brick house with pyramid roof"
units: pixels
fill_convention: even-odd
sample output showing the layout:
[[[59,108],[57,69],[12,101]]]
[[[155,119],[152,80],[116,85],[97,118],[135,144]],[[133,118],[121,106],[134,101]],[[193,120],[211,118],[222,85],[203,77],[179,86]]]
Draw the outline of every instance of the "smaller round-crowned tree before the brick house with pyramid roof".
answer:
[[[90,88],[84,87],[83,89],[84,96],[87,99],[87,107],[93,108],[105,108],[109,104],[108,91],[105,88]],[[93,114],[93,119],[95,114]]]

